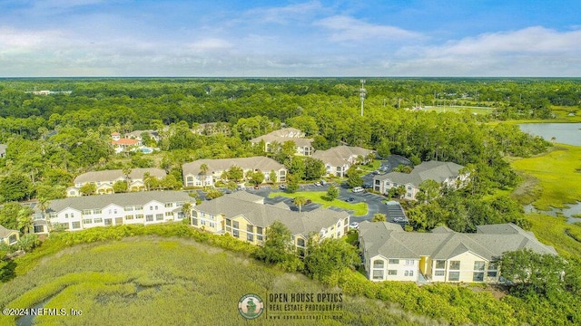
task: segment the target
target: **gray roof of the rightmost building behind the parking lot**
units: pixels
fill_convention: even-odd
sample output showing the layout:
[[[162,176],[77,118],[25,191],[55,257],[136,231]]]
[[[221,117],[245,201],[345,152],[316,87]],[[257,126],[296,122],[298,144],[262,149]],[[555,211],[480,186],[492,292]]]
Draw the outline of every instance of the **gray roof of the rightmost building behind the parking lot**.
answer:
[[[389,179],[391,182],[398,183],[399,185],[411,184],[419,187],[419,184],[425,180],[434,180],[439,184],[448,177],[457,177],[462,168],[464,167],[453,162],[431,160],[421,163],[411,173],[389,172],[385,175],[373,177],[373,179],[382,181]]]

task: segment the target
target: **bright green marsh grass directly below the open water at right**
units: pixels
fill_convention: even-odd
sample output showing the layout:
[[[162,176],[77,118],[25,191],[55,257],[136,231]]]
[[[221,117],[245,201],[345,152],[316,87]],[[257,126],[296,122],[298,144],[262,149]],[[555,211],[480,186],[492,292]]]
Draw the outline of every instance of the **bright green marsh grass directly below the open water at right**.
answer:
[[[581,148],[559,144],[543,156],[520,158],[513,168],[538,180],[542,190],[533,205],[540,210],[581,201]]]

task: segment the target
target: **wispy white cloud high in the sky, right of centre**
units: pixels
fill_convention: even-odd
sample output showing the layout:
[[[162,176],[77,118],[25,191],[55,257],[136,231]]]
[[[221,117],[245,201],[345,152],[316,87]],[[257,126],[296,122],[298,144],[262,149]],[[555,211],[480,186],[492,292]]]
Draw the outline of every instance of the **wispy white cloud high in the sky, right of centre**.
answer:
[[[422,34],[399,27],[369,24],[350,16],[335,15],[315,23],[331,31],[330,39],[336,42],[375,40],[418,40]]]

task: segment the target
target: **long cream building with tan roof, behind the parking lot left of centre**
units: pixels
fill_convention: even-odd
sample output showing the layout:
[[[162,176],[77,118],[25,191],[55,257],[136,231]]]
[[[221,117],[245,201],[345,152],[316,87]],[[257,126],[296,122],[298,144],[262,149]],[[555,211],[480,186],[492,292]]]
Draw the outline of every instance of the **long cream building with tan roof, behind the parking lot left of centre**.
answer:
[[[287,180],[287,168],[272,158],[198,159],[182,166],[183,186],[213,186],[216,181],[222,180],[222,174],[232,167],[241,168],[244,171],[244,176],[248,172],[260,171],[264,174],[264,180],[270,180],[271,171],[274,171],[276,180],[271,181],[285,182]]]

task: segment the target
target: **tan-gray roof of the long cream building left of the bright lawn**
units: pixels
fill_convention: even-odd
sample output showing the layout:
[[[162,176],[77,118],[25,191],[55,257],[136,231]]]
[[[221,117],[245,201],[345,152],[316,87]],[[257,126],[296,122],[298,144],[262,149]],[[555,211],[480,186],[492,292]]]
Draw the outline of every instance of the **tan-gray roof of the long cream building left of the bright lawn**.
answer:
[[[183,175],[197,175],[200,167],[205,164],[209,168],[209,173],[213,171],[225,171],[231,167],[239,167],[242,169],[261,170],[262,172],[270,172],[271,170],[278,171],[284,166],[272,158],[266,157],[252,157],[252,158],[217,158],[217,159],[198,159],[196,161],[185,163],[182,166]]]

